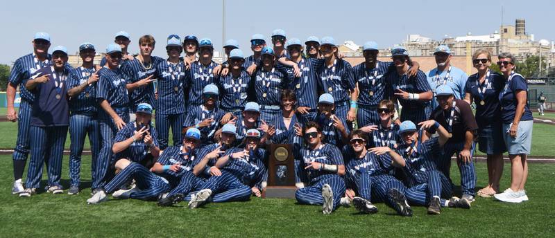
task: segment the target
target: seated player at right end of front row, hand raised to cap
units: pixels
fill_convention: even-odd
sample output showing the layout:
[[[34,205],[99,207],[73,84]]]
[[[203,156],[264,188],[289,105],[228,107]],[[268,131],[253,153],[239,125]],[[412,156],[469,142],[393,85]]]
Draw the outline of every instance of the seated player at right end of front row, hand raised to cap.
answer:
[[[410,120],[400,125],[402,143],[395,150],[389,147],[374,147],[370,151],[375,154],[388,154],[393,159],[393,166],[402,167],[406,175],[407,190],[405,196],[418,205],[428,205],[428,214],[440,214],[441,207],[465,207],[464,199],[445,200],[452,192],[452,184],[436,170],[434,159],[440,153],[441,147],[449,138],[445,128],[434,120],[420,122],[422,129],[434,128],[438,130],[438,137],[422,141],[422,131]],[[468,207],[470,208],[470,205]]]

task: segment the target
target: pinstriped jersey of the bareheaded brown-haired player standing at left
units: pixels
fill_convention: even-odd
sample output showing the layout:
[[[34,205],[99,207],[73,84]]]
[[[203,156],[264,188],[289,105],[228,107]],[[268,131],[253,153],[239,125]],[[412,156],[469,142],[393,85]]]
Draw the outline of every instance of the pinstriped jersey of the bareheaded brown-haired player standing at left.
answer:
[[[156,66],[162,61],[164,61],[164,59],[152,56],[150,66],[144,66],[144,64],[140,60],[135,58],[135,60],[123,61],[120,68],[121,71],[123,71],[124,75],[126,75],[127,83],[131,84],[142,80],[150,75],[156,75]],[[151,106],[154,108],[154,84],[150,83],[146,86],[140,86],[137,89],[133,90],[129,97],[129,101],[130,110],[133,113],[135,113],[137,105],[143,102],[151,104]]]

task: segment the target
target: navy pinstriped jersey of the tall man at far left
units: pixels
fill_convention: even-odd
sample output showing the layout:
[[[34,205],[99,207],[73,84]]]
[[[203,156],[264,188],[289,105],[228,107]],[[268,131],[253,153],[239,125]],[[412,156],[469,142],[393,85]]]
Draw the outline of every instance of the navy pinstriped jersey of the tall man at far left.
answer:
[[[42,67],[50,66],[51,60],[52,56],[49,54],[44,62],[40,62],[37,57],[35,57],[35,53],[24,55],[15,60],[10,73],[9,82],[14,86],[19,86],[19,93],[21,94],[22,100],[33,103],[35,97],[33,93],[25,88],[24,83],[35,71]]]

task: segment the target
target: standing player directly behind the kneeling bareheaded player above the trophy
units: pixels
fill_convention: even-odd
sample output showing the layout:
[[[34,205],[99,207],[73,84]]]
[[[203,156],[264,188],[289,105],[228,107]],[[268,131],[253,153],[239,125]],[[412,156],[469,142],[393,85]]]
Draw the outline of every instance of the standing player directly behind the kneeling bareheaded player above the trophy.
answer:
[[[318,43],[319,44],[319,43]],[[302,46],[300,40],[291,38],[287,42],[287,52],[289,59],[298,64],[300,77],[293,77],[290,80],[289,89],[293,89],[297,95],[297,112],[302,116],[303,122],[313,121],[316,118],[316,102],[318,100],[316,68],[320,68],[323,61],[302,56]]]

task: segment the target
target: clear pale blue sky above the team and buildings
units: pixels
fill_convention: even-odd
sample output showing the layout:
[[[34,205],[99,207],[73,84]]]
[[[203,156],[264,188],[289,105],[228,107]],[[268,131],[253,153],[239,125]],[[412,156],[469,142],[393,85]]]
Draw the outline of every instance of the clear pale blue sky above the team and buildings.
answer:
[[[0,64],[31,53],[37,31],[51,35],[51,48],[62,45],[70,54],[83,42],[104,52],[120,30],[130,33],[130,52],[138,52],[138,39],[150,34],[157,40],[153,55],[167,57],[171,34],[196,35],[222,46],[222,1],[3,1]],[[54,3],[54,4],[47,4]],[[272,30],[282,28],[287,37],[305,42],[310,35],[332,36],[336,44],[352,40],[362,45],[375,41],[380,48],[400,44],[409,34],[433,39],[488,35],[502,24],[526,19],[526,31],[536,40],[555,38],[553,3],[548,0],[466,1],[331,1],[331,0],[226,0],[225,39],[237,39],[250,55],[250,37],[261,33],[270,43]]]

